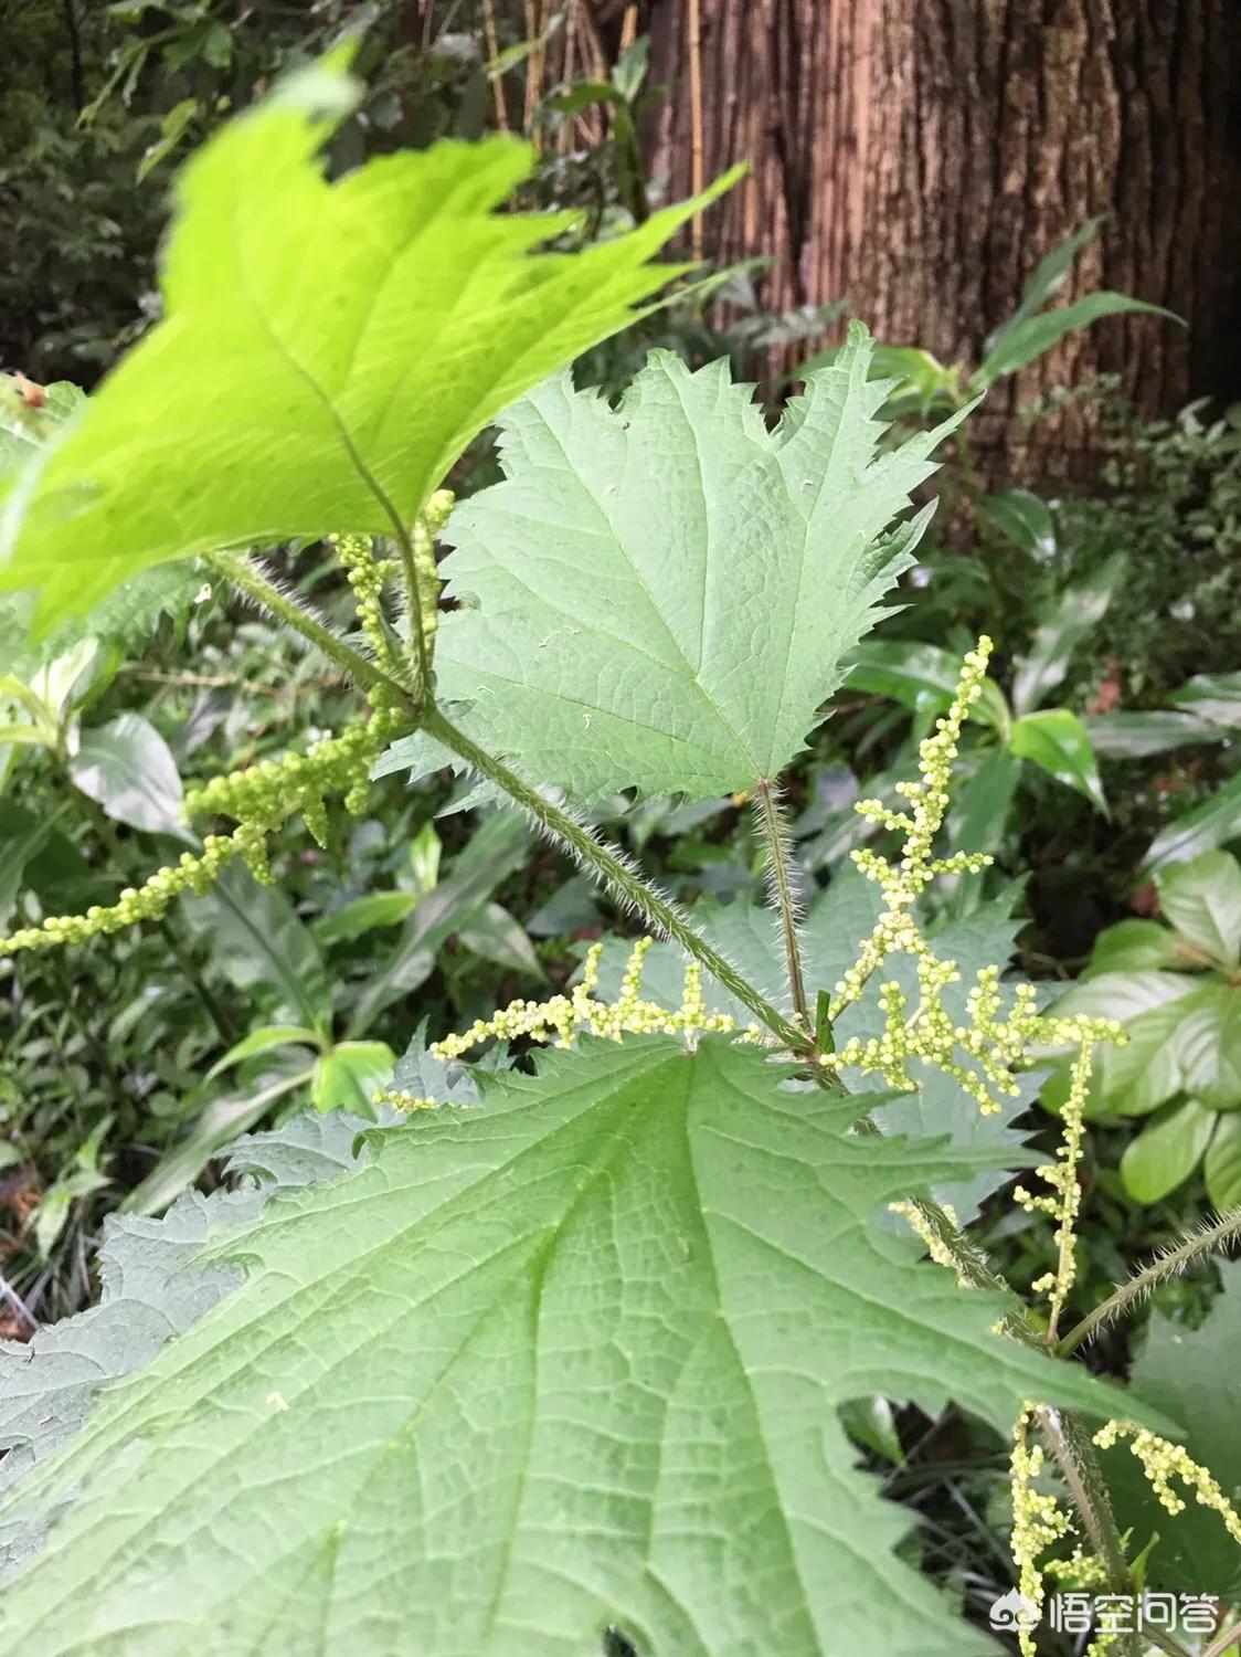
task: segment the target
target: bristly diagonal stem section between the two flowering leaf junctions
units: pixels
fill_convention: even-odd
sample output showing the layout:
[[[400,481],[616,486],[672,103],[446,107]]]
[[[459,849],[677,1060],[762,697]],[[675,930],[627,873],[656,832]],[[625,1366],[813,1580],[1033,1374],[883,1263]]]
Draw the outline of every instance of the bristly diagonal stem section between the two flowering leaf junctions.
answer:
[[[689,921],[678,910],[649,886],[641,875],[630,868],[611,847],[605,845],[583,824],[575,822],[568,812],[562,812],[550,800],[545,800],[537,789],[524,782],[517,772],[479,747],[464,731],[459,731],[439,709],[427,709],[423,729],[434,736],[444,747],[451,749],[480,775],[515,800],[522,810],[532,817],[545,833],[558,840],[583,868],[596,875],[621,901],[631,903],[640,915],[645,915],[659,931],[674,938],[681,948],[707,969],[729,994],[736,996],[751,1012],[767,1026],[792,1051],[807,1051],[807,1034],[790,1024],[757,989],[746,983],[741,973],[731,966],[711,944],[694,931]]]

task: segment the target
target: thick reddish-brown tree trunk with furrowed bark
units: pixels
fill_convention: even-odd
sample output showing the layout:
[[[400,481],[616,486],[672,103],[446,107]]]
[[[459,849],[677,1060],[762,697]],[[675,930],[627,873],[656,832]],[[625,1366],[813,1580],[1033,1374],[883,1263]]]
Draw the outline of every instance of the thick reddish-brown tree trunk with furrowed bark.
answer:
[[[716,258],[767,254],[775,308],[840,297],[891,345],[974,363],[1034,263],[1107,215],[1059,300],[1123,316],[997,386],[974,419],[992,469],[1065,476],[1092,424],[1017,408],[1117,374],[1143,416],[1241,383],[1241,15],[1236,0],[699,0],[706,176],[751,176],[706,220]],[[691,186],[691,0],[648,12],[653,169]]]

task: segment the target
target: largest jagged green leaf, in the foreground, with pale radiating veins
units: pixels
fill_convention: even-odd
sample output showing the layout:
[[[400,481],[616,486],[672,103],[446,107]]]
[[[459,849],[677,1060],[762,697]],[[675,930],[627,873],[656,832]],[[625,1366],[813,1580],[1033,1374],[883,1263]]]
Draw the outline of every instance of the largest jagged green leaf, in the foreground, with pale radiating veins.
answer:
[[[207,1248],[245,1283],[0,1510],[27,1549],[10,1637],[588,1657],[616,1626],[676,1657],[991,1650],[896,1561],[903,1518],[835,1415],[876,1392],[999,1428],[1031,1397],[1125,1407],[868,1223],[971,1158],[850,1135],[848,1099],[785,1094],[721,1039],[482,1084],[480,1110],[371,1133],[358,1171]]]

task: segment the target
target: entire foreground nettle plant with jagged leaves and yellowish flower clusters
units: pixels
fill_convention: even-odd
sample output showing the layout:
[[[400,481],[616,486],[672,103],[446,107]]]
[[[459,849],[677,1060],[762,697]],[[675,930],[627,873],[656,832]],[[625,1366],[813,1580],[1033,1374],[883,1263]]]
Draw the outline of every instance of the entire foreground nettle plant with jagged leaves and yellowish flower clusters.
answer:
[[[366,709],[191,790],[191,817],[234,827],[3,949],[162,916],[234,858],[265,875],[287,819],[321,835],[326,800],[427,762],[661,941],[416,1042],[386,1094],[408,1115],[298,1117],[244,1142],[249,1183],[111,1223],[101,1304],[3,1359],[3,1627],[126,1657],[992,1649],[898,1558],[901,1513],[838,1415],[873,1395],[1016,1432],[1031,1609],[1047,1558],[1115,1592],[1148,1564],[1100,1471],[1118,1438],[1166,1506],[1185,1491],[1241,1536],[1175,1410],[1065,1360],[1082,1110],[1115,1026],[1001,986],[1006,915],[920,930],[926,885],[983,862],[939,842],[986,640],[901,809],[862,805],[895,850],[799,905],[775,779],[910,563],[930,509],[901,514],[961,413],[880,451],[857,326],[774,431],[726,365],[656,355],[616,408],[548,379],[654,303],[671,270],[648,260],[704,204],[540,252],[558,217],[494,210],[530,166],[507,139],[325,182],[348,98],[318,70],[189,166],[166,318],[10,482],[0,580],[51,626],[202,557]],[[505,477],[446,524],[449,469],[497,416]],[[351,636],[237,550],[330,535]],[[747,792],[770,911],[683,913],[592,828],[618,789]],[[525,1067],[462,1064],[514,1037]],[[1022,1304],[958,1211],[1029,1160],[1017,1072],[1067,1044],[1064,1142],[1017,1193],[1055,1216],[1059,1263]]]

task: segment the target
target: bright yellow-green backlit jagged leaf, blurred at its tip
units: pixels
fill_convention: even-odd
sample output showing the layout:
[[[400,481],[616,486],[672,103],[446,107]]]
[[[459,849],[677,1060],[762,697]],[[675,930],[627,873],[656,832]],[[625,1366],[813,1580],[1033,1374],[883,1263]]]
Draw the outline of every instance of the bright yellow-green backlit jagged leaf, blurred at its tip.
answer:
[[[494,212],[534,164],[509,138],[328,182],[351,99],[336,71],[295,76],[181,176],[164,320],[12,492],[0,585],[41,587],[45,625],[164,558],[408,524],[487,421],[673,273],[646,262],[693,204],[537,254],[572,215]]]

